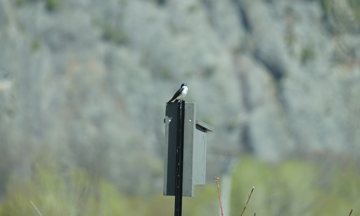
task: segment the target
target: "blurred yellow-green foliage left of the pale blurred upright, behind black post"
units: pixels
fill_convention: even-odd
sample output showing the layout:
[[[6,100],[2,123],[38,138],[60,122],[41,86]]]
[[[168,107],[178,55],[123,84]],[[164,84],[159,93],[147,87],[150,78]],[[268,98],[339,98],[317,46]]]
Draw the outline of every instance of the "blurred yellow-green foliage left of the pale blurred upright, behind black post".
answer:
[[[125,196],[113,184],[76,169],[63,174],[56,165],[38,159],[34,175],[29,179],[13,180],[7,196],[0,203],[0,215],[27,216],[162,216],[174,213],[174,197],[162,191],[144,196]],[[126,178],[126,177],[125,177]],[[195,187],[196,188],[196,187]],[[218,212],[215,184],[198,186],[195,197],[183,198],[184,215],[215,215]]]

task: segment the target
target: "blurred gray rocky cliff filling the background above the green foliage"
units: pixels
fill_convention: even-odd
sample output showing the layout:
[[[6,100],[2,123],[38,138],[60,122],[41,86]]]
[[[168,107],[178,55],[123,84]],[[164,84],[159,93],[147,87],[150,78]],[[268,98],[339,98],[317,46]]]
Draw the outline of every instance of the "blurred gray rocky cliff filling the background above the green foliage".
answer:
[[[43,157],[161,190],[182,83],[215,127],[209,173],[244,152],[360,155],[357,0],[0,0],[0,50],[0,196]]]

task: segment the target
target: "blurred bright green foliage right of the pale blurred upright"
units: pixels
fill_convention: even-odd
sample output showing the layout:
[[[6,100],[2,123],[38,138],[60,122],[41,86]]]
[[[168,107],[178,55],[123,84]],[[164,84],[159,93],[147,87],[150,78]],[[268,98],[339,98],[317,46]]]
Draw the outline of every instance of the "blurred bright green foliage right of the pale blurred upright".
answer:
[[[360,167],[354,160],[280,165],[245,157],[233,177],[231,214],[239,215],[255,186],[246,212],[258,215],[346,215],[360,211]],[[249,215],[249,214],[246,214]]]

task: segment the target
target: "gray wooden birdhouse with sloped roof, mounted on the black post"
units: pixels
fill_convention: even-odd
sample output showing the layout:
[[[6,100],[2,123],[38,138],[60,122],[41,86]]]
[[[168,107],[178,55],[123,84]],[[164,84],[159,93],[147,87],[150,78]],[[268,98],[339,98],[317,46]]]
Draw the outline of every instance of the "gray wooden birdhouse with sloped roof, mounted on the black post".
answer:
[[[180,104],[184,104],[182,119],[179,118]],[[176,165],[180,166],[181,163],[181,161],[177,162],[181,122],[183,123],[183,131],[180,132],[183,132],[182,196],[193,197],[194,185],[205,185],[206,135],[214,128],[196,119],[196,103],[168,103],[165,115],[164,195],[174,196],[179,185],[176,183],[179,176]]]

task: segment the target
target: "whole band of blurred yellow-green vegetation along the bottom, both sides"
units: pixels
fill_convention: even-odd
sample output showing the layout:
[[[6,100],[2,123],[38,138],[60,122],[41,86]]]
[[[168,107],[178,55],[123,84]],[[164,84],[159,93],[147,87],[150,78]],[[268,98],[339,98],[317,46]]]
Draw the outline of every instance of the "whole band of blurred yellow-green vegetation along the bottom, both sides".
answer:
[[[11,180],[0,203],[0,215],[162,216],[174,213],[174,197],[124,195],[117,186],[85,169],[68,174],[51,163],[33,166],[28,179]],[[126,176],[124,177],[126,178]],[[221,177],[220,193],[221,193]],[[360,166],[352,158],[289,159],[271,164],[243,157],[234,171],[231,215],[239,215],[252,186],[244,215],[346,215],[360,211]],[[183,215],[217,215],[215,181],[196,185],[194,197],[183,197]],[[223,203],[224,204],[224,203]]]

